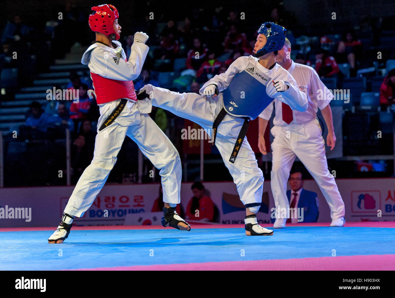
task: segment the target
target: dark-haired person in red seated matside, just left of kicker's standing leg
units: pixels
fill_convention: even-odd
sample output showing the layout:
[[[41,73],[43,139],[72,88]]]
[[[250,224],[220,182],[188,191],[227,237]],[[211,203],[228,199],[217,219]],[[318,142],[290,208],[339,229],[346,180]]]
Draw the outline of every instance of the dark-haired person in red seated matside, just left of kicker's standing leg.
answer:
[[[190,199],[186,207],[185,218],[190,220],[213,221],[214,203],[204,195],[204,186],[200,182],[192,184],[194,197]]]

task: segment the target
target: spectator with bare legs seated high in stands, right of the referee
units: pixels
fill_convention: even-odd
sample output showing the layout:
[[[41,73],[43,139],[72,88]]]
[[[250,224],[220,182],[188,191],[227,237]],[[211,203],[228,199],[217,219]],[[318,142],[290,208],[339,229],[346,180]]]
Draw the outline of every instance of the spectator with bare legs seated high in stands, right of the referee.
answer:
[[[337,54],[339,63],[350,64],[350,77],[355,77],[356,72],[356,56],[358,56],[361,51],[362,43],[359,39],[356,39],[355,32],[349,30],[344,32],[342,40],[339,41],[337,46]]]

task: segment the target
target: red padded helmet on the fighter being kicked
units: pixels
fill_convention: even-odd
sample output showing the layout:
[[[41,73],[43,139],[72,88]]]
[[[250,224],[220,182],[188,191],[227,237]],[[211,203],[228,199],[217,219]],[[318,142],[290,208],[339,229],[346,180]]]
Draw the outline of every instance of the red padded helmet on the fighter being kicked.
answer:
[[[110,36],[110,39],[118,40],[119,34],[114,31],[114,21],[119,18],[118,10],[111,4],[102,4],[92,7],[89,15],[89,27],[94,32],[100,32]]]

